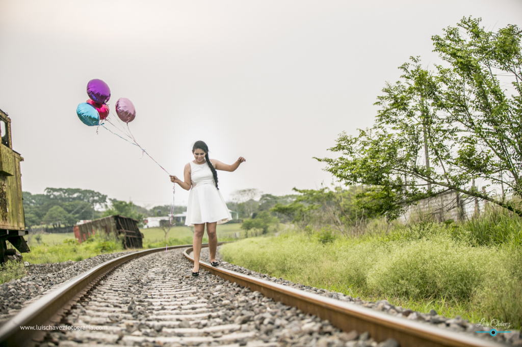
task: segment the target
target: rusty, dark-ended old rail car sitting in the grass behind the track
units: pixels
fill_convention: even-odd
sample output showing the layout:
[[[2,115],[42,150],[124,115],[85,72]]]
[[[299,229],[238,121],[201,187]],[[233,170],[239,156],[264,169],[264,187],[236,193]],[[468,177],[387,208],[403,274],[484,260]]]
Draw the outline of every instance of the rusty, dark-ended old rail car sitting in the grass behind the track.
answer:
[[[74,227],[74,236],[79,243],[87,241],[94,234],[122,237],[123,246],[128,248],[143,248],[143,233],[138,229],[136,219],[123,216],[109,216],[95,219]]]

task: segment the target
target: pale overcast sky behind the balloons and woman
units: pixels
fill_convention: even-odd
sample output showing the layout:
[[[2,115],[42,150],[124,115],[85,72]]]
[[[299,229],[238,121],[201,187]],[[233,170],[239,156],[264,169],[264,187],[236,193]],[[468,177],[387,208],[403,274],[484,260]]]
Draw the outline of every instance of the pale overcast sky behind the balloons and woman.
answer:
[[[76,116],[87,82],[104,80],[136,107],[136,140],[183,176],[192,144],[231,164],[236,189],[282,195],[331,176],[312,157],[337,135],[372,126],[398,66],[437,63],[431,36],[464,16],[522,27],[520,0],[0,0],[0,108],[13,125],[22,188],[92,189],[152,207],[172,183],[141,151]],[[176,203],[188,192],[177,187]]]

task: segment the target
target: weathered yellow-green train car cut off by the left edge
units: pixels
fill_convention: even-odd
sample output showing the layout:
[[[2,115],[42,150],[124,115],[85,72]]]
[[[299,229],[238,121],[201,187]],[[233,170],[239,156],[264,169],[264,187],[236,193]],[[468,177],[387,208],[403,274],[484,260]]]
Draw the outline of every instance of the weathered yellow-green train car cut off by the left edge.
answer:
[[[30,252],[23,236],[28,234],[23,216],[20,162],[23,158],[13,151],[11,119],[0,109],[0,263],[15,256],[7,249],[9,241],[20,253]]]

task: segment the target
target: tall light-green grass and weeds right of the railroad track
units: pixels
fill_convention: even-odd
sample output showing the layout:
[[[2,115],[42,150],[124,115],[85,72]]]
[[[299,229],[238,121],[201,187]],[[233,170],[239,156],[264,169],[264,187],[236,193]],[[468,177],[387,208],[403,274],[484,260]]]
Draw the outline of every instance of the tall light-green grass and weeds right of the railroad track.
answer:
[[[421,223],[352,238],[329,228],[287,232],[226,244],[221,254],[227,262],[270,276],[365,300],[386,299],[421,312],[433,308],[472,322],[499,319],[520,328],[521,220],[482,218],[460,225]]]

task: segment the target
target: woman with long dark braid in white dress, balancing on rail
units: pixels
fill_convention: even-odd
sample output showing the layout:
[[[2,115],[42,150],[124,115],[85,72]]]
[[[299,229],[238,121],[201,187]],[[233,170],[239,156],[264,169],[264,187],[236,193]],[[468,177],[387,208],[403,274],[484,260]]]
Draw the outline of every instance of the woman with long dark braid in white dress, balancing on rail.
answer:
[[[191,189],[188,195],[187,218],[185,225],[194,226],[194,269],[192,276],[199,273],[199,254],[201,242],[207,225],[208,247],[210,251],[210,264],[218,266],[216,262],[216,248],[218,238],[216,225],[223,224],[232,219],[227,204],[218,190],[218,174],[216,170],[235,171],[239,165],[245,162],[245,158],[239,159],[232,165],[221,163],[216,159],[208,158],[208,146],[203,141],[196,141],[192,146],[194,160],[185,165],[183,176],[185,181],[176,176],[171,176],[170,181],[177,183],[185,190]]]

